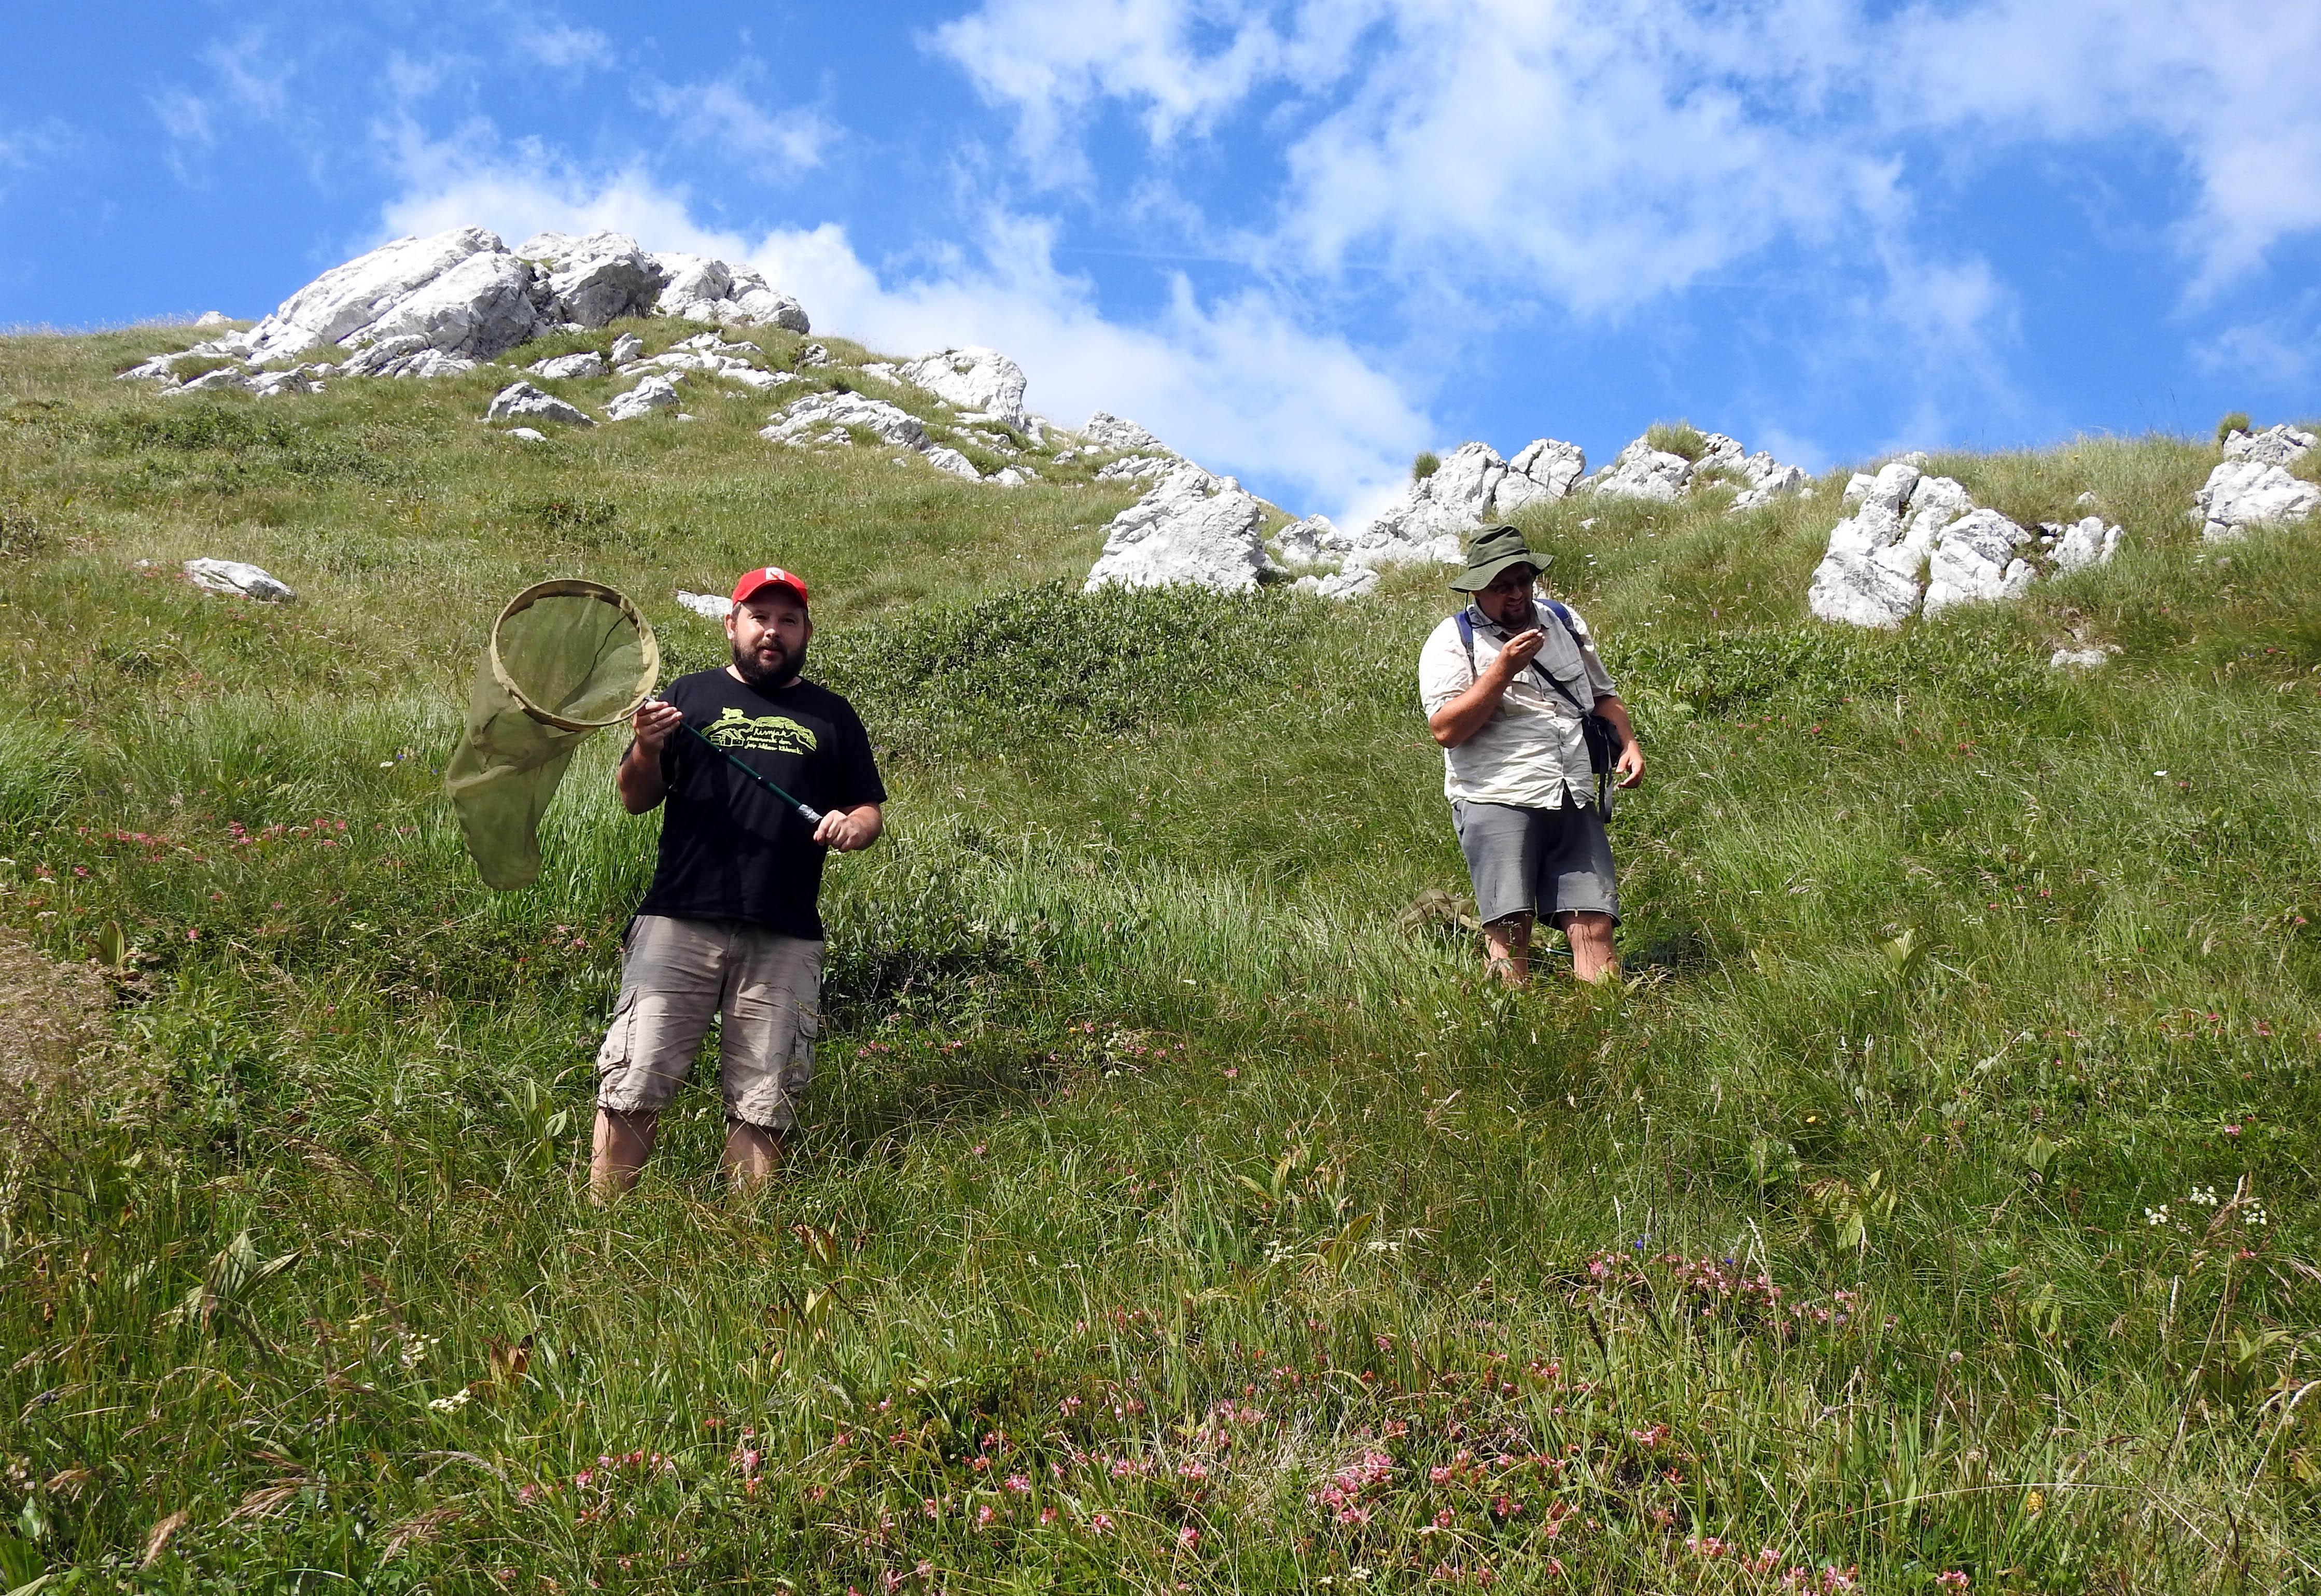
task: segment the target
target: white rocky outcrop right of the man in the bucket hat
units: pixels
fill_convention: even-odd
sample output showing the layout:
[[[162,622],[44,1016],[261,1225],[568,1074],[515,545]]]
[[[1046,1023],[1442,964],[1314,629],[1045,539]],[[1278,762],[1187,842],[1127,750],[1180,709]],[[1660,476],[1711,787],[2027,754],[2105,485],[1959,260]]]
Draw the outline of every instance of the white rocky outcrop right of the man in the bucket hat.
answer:
[[[1959,603],[2022,596],[2045,571],[2082,571],[2119,550],[2119,527],[2091,515],[2040,534],[1982,508],[1947,476],[1926,476],[1924,455],[1857,473],[1850,517],[1829,529],[1806,605],[1824,622],[1901,626]],[[1924,582],[1922,582],[1924,578]]]

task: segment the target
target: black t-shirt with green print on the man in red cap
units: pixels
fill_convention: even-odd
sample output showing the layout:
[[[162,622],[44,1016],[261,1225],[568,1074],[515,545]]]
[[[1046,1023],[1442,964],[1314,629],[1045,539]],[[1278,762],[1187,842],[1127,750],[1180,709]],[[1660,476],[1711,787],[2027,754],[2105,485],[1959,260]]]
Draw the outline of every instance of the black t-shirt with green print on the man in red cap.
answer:
[[[870,735],[854,705],[796,682],[757,691],[726,670],[680,675],[661,694],[685,724],[817,810],[887,803]],[[796,810],[678,731],[661,747],[668,800],[661,863],[638,914],[747,921],[784,937],[822,937],[822,849]]]

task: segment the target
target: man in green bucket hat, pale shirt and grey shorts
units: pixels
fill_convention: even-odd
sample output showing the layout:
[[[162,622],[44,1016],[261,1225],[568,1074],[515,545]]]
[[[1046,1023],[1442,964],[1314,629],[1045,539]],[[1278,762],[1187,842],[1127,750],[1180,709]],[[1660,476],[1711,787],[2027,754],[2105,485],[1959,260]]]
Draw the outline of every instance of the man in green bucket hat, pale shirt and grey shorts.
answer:
[[[1418,652],[1427,731],[1444,747],[1444,796],[1458,828],[1492,972],[1530,974],[1532,926],[1555,923],[1583,981],[1620,974],[1620,891],[1588,717],[1618,740],[1620,786],[1643,779],[1643,749],[1588,622],[1539,598],[1546,561],[1516,527],[1478,531],[1451,582],[1467,605]]]

